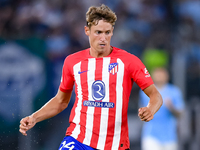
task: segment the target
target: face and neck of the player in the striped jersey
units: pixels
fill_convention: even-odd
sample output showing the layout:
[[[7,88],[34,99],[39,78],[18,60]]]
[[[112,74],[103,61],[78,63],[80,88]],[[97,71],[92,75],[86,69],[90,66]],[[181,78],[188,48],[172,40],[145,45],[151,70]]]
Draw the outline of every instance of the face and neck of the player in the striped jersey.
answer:
[[[85,27],[85,33],[90,41],[90,55],[93,57],[107,56],[111,52],[110,40],[113,35],[113,26],[103,20],[91,28]]]

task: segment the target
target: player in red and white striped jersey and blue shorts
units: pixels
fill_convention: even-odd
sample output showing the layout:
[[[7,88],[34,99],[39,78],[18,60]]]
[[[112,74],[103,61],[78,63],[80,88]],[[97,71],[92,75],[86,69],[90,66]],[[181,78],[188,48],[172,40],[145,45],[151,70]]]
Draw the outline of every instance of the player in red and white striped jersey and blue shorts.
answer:
[[[89,8],[84,29],[90,48],[65,59],[58,93],[20,121],[23,135],[37,122],[67,108],[75,84],[70,126],[59,150],[130,148],[127,109],[133,83],[150,97],[148,105],[139,109],[142,121],[153,119],[162,105],[162,97],[139,58],[110,45],[116,20],[115,13],[103,4]]]

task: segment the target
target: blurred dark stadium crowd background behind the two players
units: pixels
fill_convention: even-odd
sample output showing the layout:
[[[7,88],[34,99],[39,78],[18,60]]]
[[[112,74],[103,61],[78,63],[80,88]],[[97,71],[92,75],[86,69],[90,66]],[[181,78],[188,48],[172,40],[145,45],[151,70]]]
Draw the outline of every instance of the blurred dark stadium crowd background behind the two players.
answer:
[[[0,149],[55,150],[73,105],[38,123],[24,137],[19,121],[57,92],[64,58],[88,48],[89,6],[104,3],[118,20],[111,44],[135,54],[147,68],[166,66],[181,88],[180,150],[200,149],[199,0],[0,0]],[[129,107],[131,149],[140,150],[137,85]],[[74,97],[74,95],[72,96]]]

